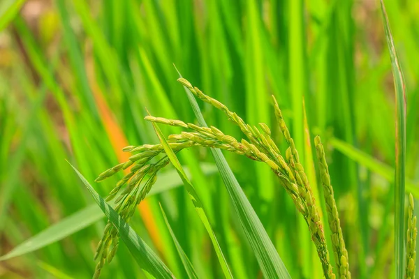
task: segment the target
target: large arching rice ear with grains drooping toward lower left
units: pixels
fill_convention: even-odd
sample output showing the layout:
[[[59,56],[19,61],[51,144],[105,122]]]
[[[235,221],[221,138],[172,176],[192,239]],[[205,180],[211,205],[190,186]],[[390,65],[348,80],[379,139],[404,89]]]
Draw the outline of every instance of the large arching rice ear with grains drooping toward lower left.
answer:
[[[239,142],[234,137],[226,135],[214,126],[211,126],[210,128],[200,127],[192,123],[184,123],[183,121],[179,121],[177,119],[165,119],[151,115],[146,116],[145,120],[151,121],[153,123],[162,123],[170,126],[189,128],[193,130],[193,132],[182,132],[179,135],[170,135],[168,137],[168,144],[170,149],[173,151],[181,151],[182,149],[191,146],[213,147],[225,149],[239,155],[244,155],[248,158],[251,158],[252,160],[256,160],[268,165],[270,169],[272,169],[272,172],[277,175],[279,181],[281,181],[281,184],[284,186],[288,195],[290,195],[291,199],[293,199],[297,211],[302,213],[302,216],[304,217],[304,220],[306,221],[309,228],[311,239],[314,241],[318,256],[321,260],[325,278],[335,278],[335,275],[332,273],[332,266],[329,260],[328,248],[326,246],[325,235],[323,232],[323,224],[318,213],[319,209],[309,186],[309,181],[307,179],[307,175],[304,172],[304,167],[302,167],[300,163],[298,151],[295,149],[293,138],[291,137],[286,123],[282,118],[281,110],[279,110],[277,101],[274,99],[275,116],[277,116],[279,127],[284,134],[286,142],[288,142],[288,145],[290,146],[287,149],[286,158],[281,155],[277,144],[275,144],[271,138],[271,130],[265,123],[259,123],[259,128],[256,126],[250,126],[248,123],[245,123],[243,119],[240,118],[240,116],[238,116],[235,112],[231,112],[226,105],[220,103],[219,100],[205,95],[198,88],[193,87],[192,84],[184,78],[180,78],[178,81],[182,85],[186,86],[196,97],[223,111],[224,114],[228,116],[228,119],[240,127],[240,130],[242,130],[249,141],[242,139]],[[126,167],[126,165],[134,165],[131,168],[131,172],[135,173],[135,176],[133,177],[141,177],[141,179],[139,181],[133,181],[131,176],[129,176],[128,179],[122,179],[122,182],[119,182],[117,185],[117,190],[112,190],[110,195],[110,198],[115,197],[115,194],[119,191],[119,188],[121,188],[129,179],[133,181],[132,183],[131,181],[128,182],[128,187],[126,187],[126,190],[124,190],[122,195],[120,195],[120,197],[117,199],[118,212],[124,218],[126,218],[126,220],[129,220],[133,212],[131,210],[131,206],[133,206],[133,204],[138,204],[138,202],[140,202],[145,197],[144,193],[147,193],[154,184],[152,181],[156,177],[156,173],[159,172],[159,169],[167,165],[168,159],[166,155],[164,155],[165,153],[161,144],[128,146],[125,151],[138,153],[135,153],[133,156],[131,156],[128,162],[121,163],[117,165],[117,167],[103,172],[103,174],[101,174],[99,177],[101,180],[103,180],[113,174],[112,172],[116,172],[118,169]],[[163,159],[160,161],[161,163],[150,164],[149,161],[159,154],[163,154]],[[147,164],[149,164],[149,167],[147,167],[147,172],[152,177],[152,179],[149,179],[147,183],[145,183],[145,186],[142,188],[142,190],[138,190],[142,178],[145,176],[145,174],[140,174],[140,176],[138,176],[137,172],[140,172],[140,170],[143,169],[142,166]],[[110,241],[110,243],[114,243],[116,239],[117,236],[114,236],[112,227],[109,227],[107,231],[105,231],[101,243],[108,243],[108,241]],[[98,253],[101,253],[101,262],[98,272],[100,272],[100,268],[102,267],[101,263],[103,262],[103,259],[108,257],[109,253],[115,254],[115,249],[112,249],[110,252],[108,249],[98,249]],[[344,259],[342,259],[342,262],[344,262]]]

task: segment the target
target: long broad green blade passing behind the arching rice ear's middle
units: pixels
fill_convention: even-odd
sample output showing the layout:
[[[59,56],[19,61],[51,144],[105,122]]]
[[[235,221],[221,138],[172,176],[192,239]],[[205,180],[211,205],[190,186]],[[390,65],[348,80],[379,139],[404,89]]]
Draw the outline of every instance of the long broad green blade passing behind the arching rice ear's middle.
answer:
[[[177,72],[179,73],[179,71]],[[182,75],[179,76],[182,77]],[[184,86],[186,95],[191,103],[192,110],[200,126],[207,127],[207,123],[200,112],[198,103],[196,103],[193,94]],[[210,149],[214,157],[216,166],[227,188],[228,195],[230,195],[235,211],[240,220],[240,224],[244,230],[244,234],[249,241],[249,244],[256,255],[256,259],[262,270],[263,276],[266,278],[291,278],[284,262],[274,247],[262,223],[260,222],[256,212],[251,206],[249,199],[247,199],[239,182],[235,178],[233,171],[228,166],[226,158],[219,149]]]

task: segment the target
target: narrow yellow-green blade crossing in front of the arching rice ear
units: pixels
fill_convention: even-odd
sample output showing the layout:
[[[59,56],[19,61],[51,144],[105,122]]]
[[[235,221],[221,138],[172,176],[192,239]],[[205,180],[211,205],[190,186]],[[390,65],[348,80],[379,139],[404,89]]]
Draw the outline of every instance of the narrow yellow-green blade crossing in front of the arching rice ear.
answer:
[[[196,212],[198,213],[200,220],[203,222],[205,229],[207,229],[207,232],[210,235],[212,245],[214,246],[216,255],[221,264],[221,268],[223,269],[224,276],[226,276],[226,278],[233,278],[230,272],[230,268],[228,267],[228,264],[226,262],[226,258],[224,257],[223,252],[221,251],[219,242],[216,240],[214,230],[211,227],[210,221],[207,218],[207,214],[205,213],[203,204],[200,202],[200,198],[198,197],[198,194],[196,193],[195,188],[193,188],[191,181],[189,181],[188,176],[186,176],[184,169],[182,168],[182,165],[180,165],[179,160],[177,160],[175,152],[172,151],[172,149],[168,145],[168,142],[163,137],[163,134],[161,133],[160,128],[156,126],[155,123],[153,123],[153,127],[154,127],[154,130],[156,130],[156,134],[159,137],[161,144],[163,145],[166,155],[168,156],[168,158],[170,159],[170,162],[175,167],[175,169],[177,170],[177,173],[179,174],[180,178],[184,182],[186,191],[188,192],[189,197],[191,198],[191,201],[193,202],[193,206],[195,206]]]

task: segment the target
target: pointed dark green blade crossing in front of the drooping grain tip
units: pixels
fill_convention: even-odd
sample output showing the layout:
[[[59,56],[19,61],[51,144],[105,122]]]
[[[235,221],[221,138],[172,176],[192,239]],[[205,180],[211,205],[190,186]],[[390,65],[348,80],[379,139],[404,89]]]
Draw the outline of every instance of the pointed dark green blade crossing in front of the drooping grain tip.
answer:
[[[71,167],[73,167],[73,165],[71,165]],[[145,243],[140,236],[135,234],[134,230],[122,220],[118,213],[115,212],[112,207],[98,195],[98,193],[96,193],[84,176],[82,176],[75,167],[73,167],[73,169],[87,187],[87,190],[89,190],[103,213],[105,213],[112,224],[117,228],[119,236],[121,236],[121,239],[124,241],[138,265],[156,278],[175,278],[168,267],[163,264],[161,259],[157,257],[149,246],[147,246],[147,243]]]

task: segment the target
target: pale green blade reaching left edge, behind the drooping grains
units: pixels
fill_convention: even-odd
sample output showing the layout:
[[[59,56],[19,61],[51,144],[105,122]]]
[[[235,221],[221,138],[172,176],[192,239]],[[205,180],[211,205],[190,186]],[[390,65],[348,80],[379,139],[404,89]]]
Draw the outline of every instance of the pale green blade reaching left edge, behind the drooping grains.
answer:
[[[207,176],[216,172],[216,167],[212,164],[201,164],[201,167],[204,174]],[[189,177],[191,177],[189,169],[185,169],[185,172]],[[153,186],[152,190],[150,190],[147,197],[166,192],[181,185],[182,180],[179,178],[175,170],[164,172],[163,174],[159,174],[156,184]],[[81,209],[58,223],[47,227],[47,229],[44,229],[42,232],[39,232],[16,246],[6,255],[0,257],[0,262],[27,254],[29,252],[34,252],[52,243],[60,241],[75,232],[79,232],[85,227],[89,227],[89,225],[96,223],[103,217],[103,212],[95,204],[86,206],[84,209]]]

